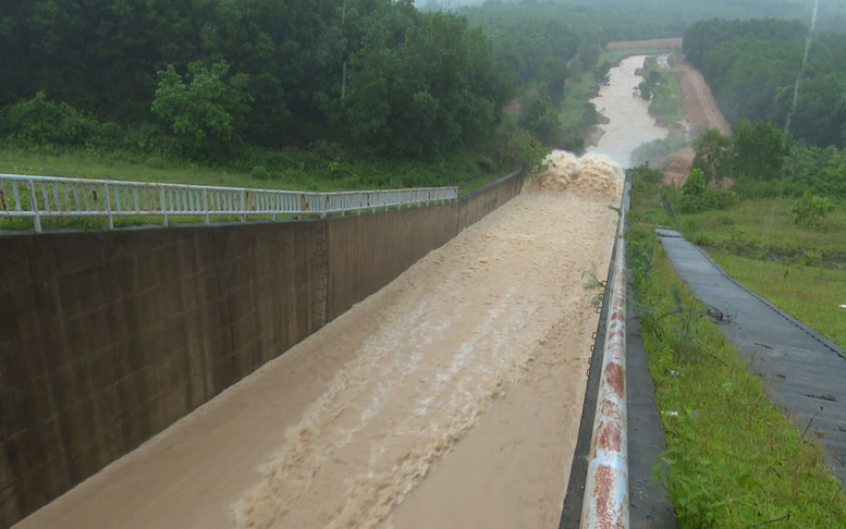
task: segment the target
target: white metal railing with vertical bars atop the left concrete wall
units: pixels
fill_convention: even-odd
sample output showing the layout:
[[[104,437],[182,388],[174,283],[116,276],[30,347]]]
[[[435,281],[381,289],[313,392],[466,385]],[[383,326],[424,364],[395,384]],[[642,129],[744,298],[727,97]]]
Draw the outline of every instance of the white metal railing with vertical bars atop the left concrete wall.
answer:
[[[347,211],[454,201],[457,187],[380,189],[342,193],[303,193],[243,187],[216,187],[147,182],[62,179],[0,174],[0,218],[33,219],[41,232],[41,219],[50,217],[106,217],[114,229],[115,217],[169,217],[278,214],[345,214]]]

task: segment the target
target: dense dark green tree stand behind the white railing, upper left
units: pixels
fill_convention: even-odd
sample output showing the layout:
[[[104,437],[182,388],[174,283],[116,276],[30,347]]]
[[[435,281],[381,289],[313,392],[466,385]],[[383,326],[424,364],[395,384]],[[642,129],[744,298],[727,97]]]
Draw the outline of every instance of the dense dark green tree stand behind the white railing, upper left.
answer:
[[[424,157],[473,146],[508,96],[480,30],[410,2],[37,0],[3,10],[0,69],[19,72],[0,87],[0,106],[12,104],[3,132],[34,143],[127,126],[156,140],[161,126],[196,158],[318,139]],[[59,114],[51,137],[33,130],[39,111]]]

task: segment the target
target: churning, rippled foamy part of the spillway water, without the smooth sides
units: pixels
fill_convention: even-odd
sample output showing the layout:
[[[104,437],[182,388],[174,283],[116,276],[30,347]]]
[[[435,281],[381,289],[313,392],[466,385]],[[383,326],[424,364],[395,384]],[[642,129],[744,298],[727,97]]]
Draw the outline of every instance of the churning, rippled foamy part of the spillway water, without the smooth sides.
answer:
[[[392,510],[526,376],[551,330],[596,318],[587,294],[566,285],[608,258],[598,234],[615,229],[606,205],[620,199],[623,171],[564,151],[547,163],[522,196],[342,317],[380,323],[232,505],[237,527],[391,527]],[[596,322],[583,327],[589,337]]]

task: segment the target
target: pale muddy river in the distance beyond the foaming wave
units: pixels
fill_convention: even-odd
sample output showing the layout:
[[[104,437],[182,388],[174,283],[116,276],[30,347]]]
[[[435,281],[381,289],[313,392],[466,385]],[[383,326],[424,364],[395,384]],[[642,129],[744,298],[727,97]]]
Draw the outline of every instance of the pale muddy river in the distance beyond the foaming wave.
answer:
[[[606,155],[624,168],[632,164],[632,152],[642,144],[666,137],[667,130],[657,126],[649,115],[649,102],[634,95],[642,77],[635,75],[643,66],[646,56],[624,59],[620,66],[611,69],[608,86],[591,99],[597,110],[609,122],[600,125],[604,134],[588,152]]]

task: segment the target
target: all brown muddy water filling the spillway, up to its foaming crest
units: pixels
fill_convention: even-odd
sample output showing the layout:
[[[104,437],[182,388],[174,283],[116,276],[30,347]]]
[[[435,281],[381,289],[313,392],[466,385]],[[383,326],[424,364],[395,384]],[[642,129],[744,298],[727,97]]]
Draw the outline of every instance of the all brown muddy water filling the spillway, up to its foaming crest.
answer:
[[[556,527],[620,169],[566,153],[22,528]]]

